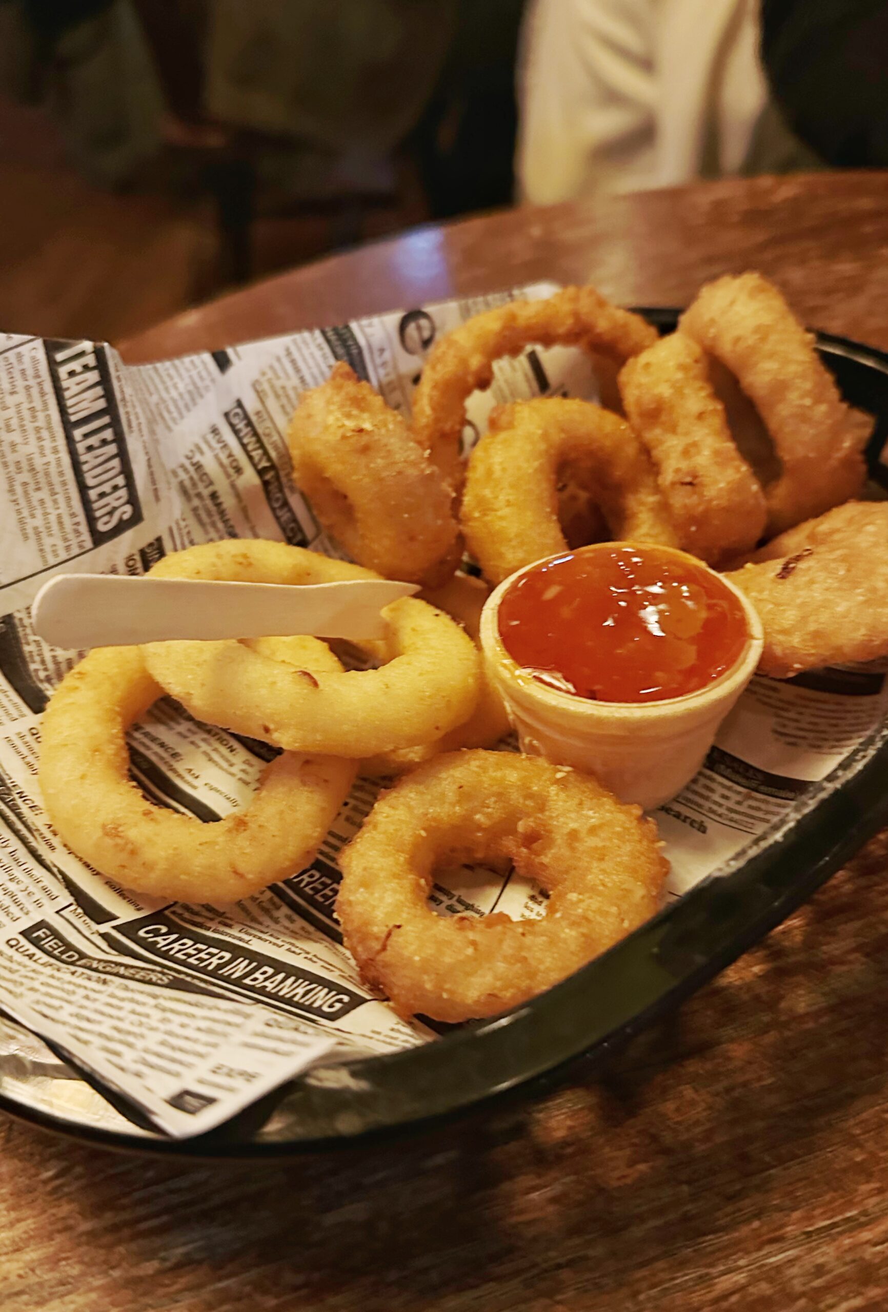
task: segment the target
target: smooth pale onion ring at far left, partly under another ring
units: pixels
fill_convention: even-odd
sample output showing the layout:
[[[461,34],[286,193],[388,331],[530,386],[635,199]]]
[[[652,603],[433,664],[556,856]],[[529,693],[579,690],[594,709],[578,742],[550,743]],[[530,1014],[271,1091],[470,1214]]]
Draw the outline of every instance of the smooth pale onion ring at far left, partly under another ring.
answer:
[[[177,815],[129,778],[126,729],[159,697],[138,647],[104,647],[50,698],[39,785],[68,848],[126,888],[195,903],[239,901],[307,866],[352,787],[354,762],[287,752],[245,810],[210,824]]]

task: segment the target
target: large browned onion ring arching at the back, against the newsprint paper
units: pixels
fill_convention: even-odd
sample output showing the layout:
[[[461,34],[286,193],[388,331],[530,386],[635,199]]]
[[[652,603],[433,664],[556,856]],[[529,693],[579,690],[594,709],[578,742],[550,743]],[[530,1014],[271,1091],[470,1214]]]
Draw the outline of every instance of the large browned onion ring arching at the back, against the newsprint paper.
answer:
[[[540,346],[581,345],[620,365],[657,340],[640,315],[611,306],[594,287],[564,287],[547,300],[512,300],[475,315],[438,341],[413,394],[413,433],[455,492],[466,401],[493,382],[493,362]]]

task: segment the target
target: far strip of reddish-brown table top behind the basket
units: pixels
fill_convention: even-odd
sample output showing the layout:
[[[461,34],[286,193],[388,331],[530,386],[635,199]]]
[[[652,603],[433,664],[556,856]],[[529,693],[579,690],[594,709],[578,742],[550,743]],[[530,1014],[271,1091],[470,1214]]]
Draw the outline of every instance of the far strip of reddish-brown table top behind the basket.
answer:
[[[623,304],[686,304],[759,269],[812,327],[888,348],[888,172],[728,178],[422,227],[190,310],[122,344],[160,359],[554,278]]]

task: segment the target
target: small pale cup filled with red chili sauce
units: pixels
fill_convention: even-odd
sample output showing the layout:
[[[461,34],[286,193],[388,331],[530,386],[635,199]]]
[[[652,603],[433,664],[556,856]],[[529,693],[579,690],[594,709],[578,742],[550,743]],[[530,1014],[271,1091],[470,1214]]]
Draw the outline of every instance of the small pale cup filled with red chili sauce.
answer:
[[[700,644],[698,659],[693,631],[703,623],[716,638]],[[699,770],[758,665],[762,625],[740,589],[695,556],[599,542],[501,583],[481,613],[480,639],[522,750],[594,774],[620,800],[651,810]],[[533,665],[515,659],[527,651]],[[577,652],[582,678],[572,664]],[[647,674],[645,653],[655,663]],[[636,668],[637,687],[626,691]],[[681,691],[661,695],[661,685]],[[614,690],[626,699],[609,699]]]

